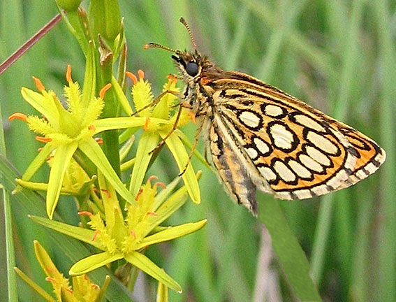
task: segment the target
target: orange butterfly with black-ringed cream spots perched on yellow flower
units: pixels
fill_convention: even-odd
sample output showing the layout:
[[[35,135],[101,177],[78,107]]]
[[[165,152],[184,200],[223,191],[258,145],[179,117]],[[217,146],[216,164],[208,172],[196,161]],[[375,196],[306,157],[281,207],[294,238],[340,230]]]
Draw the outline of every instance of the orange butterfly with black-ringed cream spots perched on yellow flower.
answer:
[[[221,69],[198,52],[189,25],[180,22],[192,52],[145,48],[175,54],[182,104],[200,118],[198,131],[226,191],[251,213],[258,213],[256,189],[309,199],[354,185],[383,164],[386,153],[371,138],[251,75]]]

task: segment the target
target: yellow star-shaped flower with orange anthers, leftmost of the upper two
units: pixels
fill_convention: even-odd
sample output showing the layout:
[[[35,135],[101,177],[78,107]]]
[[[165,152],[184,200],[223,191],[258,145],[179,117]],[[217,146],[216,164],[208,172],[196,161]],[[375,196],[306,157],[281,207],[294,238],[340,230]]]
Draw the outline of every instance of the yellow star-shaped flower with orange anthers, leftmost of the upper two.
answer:
[[[86,77],[89,76],[92,75],[87,72]],[[32,131],[40,134],[36,139],[46,144],[27,168],[22,176],[22,181],[29,180],[38,171],[38,168],[45,163],[47,157],[53,154],[50,177],[46,186],[47,215],[52,219],[66,171],[68,171],[73,154],[79,149],[105,174],[121,196],[130,203],[135,203],[133,196],[119,180],[105,154],[92,137],[97,133],[95,123],[103,110],[103,96],[111,85],[105,85],[101,89],[99,97],[92,94],[94,91],[92,87],[85,87],[84,91],[80,92],[78,83],[73,82],[71,78],[70,65],[66,72],[66,80],[68,86],[64,88],[64,92],[67,109],[64,108],[54,92],[45,90],[43,83],[38,78],[34,78],[34,81],[39,93],[22,88],[24,99],[36,108],[43,117],[35,115],[27,117],[22,113],[15,113],[10,116],[10,120],[18,118],[26,121]],[[94,82],[94,80],[86,82]],[[31,188],[41,189],[42,186],[36,185],[35,187],[33,185]],[[20,189],[20,187],[17,187],[14,193]]]

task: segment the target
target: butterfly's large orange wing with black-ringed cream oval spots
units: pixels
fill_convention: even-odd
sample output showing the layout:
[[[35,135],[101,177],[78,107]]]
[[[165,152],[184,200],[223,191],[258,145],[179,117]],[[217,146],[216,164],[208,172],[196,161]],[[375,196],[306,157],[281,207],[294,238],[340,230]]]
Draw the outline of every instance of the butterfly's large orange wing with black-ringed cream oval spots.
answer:
[[[205,85],[213,92],[211,133],[235,153],[224,157],[235,157],[258,189],[279,199],[349,187],[386,158],[364,134],[249,75],[228,73]]]

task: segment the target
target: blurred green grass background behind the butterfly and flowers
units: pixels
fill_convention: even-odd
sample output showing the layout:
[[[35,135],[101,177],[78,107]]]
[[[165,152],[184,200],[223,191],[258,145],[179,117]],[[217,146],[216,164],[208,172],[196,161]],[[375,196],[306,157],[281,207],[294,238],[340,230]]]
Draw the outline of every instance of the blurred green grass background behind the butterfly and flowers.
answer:
[[[324,301],[396,301],[395,4],[385,0],[120,1],[128,69],[134,73],[143,69],[154,92],[175,68],[169,52],[145,51],[143,45],[153,41],[191,49],[178,21],[183,16],[200,52],[223,69],[265,80],[350,124],[386,150],[380,171],[350,189],[311,201],[281,202]],[[52,0],[1,1],[0,61],[56,13]],[[9,123],[7,117],[15,111],[32,112],[20,95],[22,86],[34,88],[31,75],[61,94],[67,64],[72,65],[73,79],[82,82],[84,57],[61,22],[0,76],[8,159],[21,172],[39,145],[24,123]],[[186,131],[192,141],[195,128],[189,125]],[[202,143],[199,148],[203,150]],[[272,254],[270,274],[261,268],[263,255],[271,255],[261,224],[228,199],[215,175],[195,159],[193,164],[204,172],[202,203],[187,203],[170,224],[207,217],[207,226],[147,251],[184,289],[182,295],[170,293],[170,301],[260,301],[261,294],[278,289],[284,301],[290,301],[277,258]],[[177,167],[164,150],[149,172],[167,183],[177,175]],[[265,198],[271,197],[258,193],[258,199]],[[61,201],[59,206],[66,220],[76,222],[73,201]],[[16,207],[13,219],[17,266],[49,289],[33,254],[33,240],[40,240],[66,273],[61,253],[43,236],[41,227]],[[4,249],[1,243],[2,255]],[[5,257],[1,271],[0,284],[5,285]],[[263,287],[258,280],[268,275],[273,282]],[[155,282],[144,281],[138,284],[142,301],[152,301]],[[20,301],[32,301],[29,289],[22,282],[18,285]],[[0,301],[5,299],[6,292],[1,291]]]

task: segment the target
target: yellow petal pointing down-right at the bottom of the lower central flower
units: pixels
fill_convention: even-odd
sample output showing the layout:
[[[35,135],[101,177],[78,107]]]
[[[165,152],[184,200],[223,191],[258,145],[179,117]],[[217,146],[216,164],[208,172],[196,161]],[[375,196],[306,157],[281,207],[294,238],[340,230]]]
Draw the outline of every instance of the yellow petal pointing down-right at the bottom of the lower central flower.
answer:
[[[175,290],[176,292],[182,292],[182,287],[180,287],[179,283],[177,283],[173,278],[170,277],[163,269],[156,266],[153,261],[147,258],[144,254],[140,254],[140,252],[130,252],[125,255],[126,261],[130,264],[133,264],[140,270],[144,271],[148,275],[151,275],[152,278],[159,280],[167,287]]]

